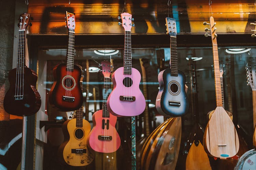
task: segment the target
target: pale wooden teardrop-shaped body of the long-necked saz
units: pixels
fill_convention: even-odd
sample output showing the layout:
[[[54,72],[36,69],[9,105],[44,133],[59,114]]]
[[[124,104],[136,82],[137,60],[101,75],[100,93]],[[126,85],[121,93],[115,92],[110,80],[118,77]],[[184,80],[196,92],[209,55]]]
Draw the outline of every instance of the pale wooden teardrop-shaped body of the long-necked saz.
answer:
[[[203,140],[204,150],[210,156],[228,158],[237,154],[237,131],[223,107],[216,107],[205,128]]]

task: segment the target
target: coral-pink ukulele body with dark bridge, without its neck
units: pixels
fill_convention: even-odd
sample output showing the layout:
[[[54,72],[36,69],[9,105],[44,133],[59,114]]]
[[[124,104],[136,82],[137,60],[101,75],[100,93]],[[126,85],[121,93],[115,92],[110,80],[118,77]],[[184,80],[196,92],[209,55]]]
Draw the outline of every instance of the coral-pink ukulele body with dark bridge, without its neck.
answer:
[[[94,127],[91,130],[88,139],[87,145],[90,146],[93,150],[102,153],[111,153],[117,151],[120,147],[120,137],[115,129],[115,124],[117,117],[109,115],[109,118],[102,117],[102,110],[99,110],[93,114],[93,124]],[[102,120],[107,122],[109,120],[109,129],[102,129]],[[98,136],[111,136],[112,140],[99,140]]]

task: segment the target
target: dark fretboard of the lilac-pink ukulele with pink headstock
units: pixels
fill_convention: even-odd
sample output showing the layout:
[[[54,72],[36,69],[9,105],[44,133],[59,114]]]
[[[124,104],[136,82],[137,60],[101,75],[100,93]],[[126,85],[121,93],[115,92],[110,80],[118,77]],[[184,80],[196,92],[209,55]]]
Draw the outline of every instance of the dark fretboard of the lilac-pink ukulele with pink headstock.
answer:
[[[131,31],[125,31],[124,74],[131,74]]]

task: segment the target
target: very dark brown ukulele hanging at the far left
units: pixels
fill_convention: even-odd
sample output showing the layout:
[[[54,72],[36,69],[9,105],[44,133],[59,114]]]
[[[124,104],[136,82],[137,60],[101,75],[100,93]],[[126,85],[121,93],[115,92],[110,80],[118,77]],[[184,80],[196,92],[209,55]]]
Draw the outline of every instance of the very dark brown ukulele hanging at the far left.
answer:
[[[16,116],[30,116],[38,112],[41,97],[36,89],[37,73],[25,65],[26,29],[30,14],[20,15],[17,68],[9,72],[10,88],[4,96],[4,110]]]

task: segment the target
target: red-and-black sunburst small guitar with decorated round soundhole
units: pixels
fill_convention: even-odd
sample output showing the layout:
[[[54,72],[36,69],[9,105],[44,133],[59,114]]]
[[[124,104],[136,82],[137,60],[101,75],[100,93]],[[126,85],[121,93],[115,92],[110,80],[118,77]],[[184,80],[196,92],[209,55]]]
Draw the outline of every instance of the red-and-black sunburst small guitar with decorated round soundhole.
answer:
[[[75,14],[66,11],[69,34],[66,63],[54,67],[54,83],[49,92],[49,103],[61,111],[74,111],[83,104],[83,94],[79,87],[81,69],[74,65]]]

